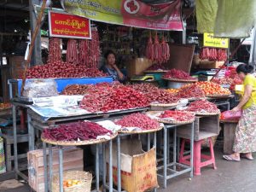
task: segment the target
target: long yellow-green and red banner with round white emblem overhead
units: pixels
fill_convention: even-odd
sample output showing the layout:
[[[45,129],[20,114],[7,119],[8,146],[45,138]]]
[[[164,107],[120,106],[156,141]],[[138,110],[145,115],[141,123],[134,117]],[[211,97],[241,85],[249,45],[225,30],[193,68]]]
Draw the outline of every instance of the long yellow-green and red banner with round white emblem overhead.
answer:
[[[90,20],[156,30],[183,31],[181,0],[150,4],[139,0],[64,0],[64,9]]]

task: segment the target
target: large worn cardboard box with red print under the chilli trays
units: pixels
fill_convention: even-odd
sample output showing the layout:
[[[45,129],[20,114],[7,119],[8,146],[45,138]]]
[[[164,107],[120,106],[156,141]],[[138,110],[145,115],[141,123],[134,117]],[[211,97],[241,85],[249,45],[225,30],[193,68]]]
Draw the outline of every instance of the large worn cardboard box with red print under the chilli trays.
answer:
[[[121,183],[127,192],[143,192],[158,187],[155,148],[142,149],[139,140],[121,141]],[[117,146],[113,144],[113,183],[117,184]],[[108,149],[106,153],[108,160]]]

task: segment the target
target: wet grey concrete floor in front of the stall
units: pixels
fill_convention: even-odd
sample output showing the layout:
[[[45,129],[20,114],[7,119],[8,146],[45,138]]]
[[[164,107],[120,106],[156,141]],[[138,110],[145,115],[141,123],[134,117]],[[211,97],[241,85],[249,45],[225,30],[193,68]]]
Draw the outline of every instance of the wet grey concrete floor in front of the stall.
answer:
[[[222,150],[215,148],[217,170],[204,167],[201,176],[189,180],[189,174],[169,180],[167,189],[159,192],[256,192],[256,160],[229,162],[222,160]],[[256,159],[256,154],[254,153]],[[161,186],[161,183],[160,183]],[[15,189],[1,189],[1,192],[27,192],[27,185]]]

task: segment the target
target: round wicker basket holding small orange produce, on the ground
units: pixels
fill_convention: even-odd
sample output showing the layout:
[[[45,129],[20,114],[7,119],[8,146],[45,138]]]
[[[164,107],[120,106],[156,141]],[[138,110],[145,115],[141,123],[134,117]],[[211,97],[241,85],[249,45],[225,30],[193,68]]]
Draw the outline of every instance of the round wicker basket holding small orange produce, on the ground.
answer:
[[[63,181],[72,179],[81,183],[72,187],[64,187],[64,192],[90,192],[92,175],[90,172],[67,171],[63,172]],[[55,175],[52,180],[52,192],[60,191],[59,175]]]

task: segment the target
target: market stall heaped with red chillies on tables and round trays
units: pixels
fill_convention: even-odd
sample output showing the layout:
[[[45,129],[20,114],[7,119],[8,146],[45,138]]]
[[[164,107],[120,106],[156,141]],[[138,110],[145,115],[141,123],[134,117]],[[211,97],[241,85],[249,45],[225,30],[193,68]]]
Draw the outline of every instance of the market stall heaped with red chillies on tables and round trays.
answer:
[[[120,2],[116,1],[118,5]],[[65,12],[47,11],[50,37],[47,63],[28,67],[28,58],[23,77],[20,77],[22,79],[9,80],[15,175],[28,180],[32,189],[100,191],[102,184],[104,190],[115,191],[114,183],[117,191],[143,192],[156,190],[161,179],[166,188],[167,180],[172,177],[188,172],[193,177],[194,173],[200,172],[198,162],[194,162],[194,146],[198,149],[197,142],[204,139],[210,142],[212,137],[218,136],[220,111],[217,105],[227,105],[229,109],[231,92],[219,85],[219,79],[215,79],[215,83],[200,82],[193,76],[190,69],[194,46],[171,44],[172,32],[169,31],[183,30],[180,10],[176,9],[180,6],[179,0],[164,5],[136,3],[126,1],[125,9],[121,9],[123,4],[120,4],[122,15],[119,12],[109,15],[106,9],[113,11],[116,8],[111,9],[103,1],[102,6],[93,9],[100,16],[81,11],[90,10],[89,4],[68,1],[64,3]],[[140,6],[148,9],[151,20],[142,16],[143,13],[137,14],[140,9],[136,8]],[[154,10],[160,10],[158,15]],[[169,12],[172,14],[166,15]],[[69,25],[68,20],[76,21]],[[103,63],[102,55],[108,49],[118,54],[116,60],[119,61],[120,71],[128,76],[128,81],[131,79],[132,84],[113,82],[113,76],[99,70]],[[183,52],[184,49],[188,54]],[[223,49],[218,51],[217,56],[212,55],[215,49],[210,55],[207,55],[208,52],[208,48],[203,49],[201,59],[223,60],[226,56]],[[145,83],[147,81],[151,84]],[[169,90],[163,89],[166,82]],[[39,176],[35,179],[32,175],[32,168],[37,170],[38,167],[28,167],[28,177],[19,167],[17,116],[20,109],[25,117],[22,121],[27,123],[28,129],[28,159],[38,162],[37,157],[40,156],[40,167],[44,167],[41,180]],[[208,121],[211,123],[209,127]],[[143,142],[145,136],[147,141]],[[127,137],[132,142],[125,140]],[[181,155],[180,138],[190,141],[191,150],[189,158],[186,158],[189,162],[177,161],[177,156]],[[35,150],[36,141],[43,143],[39,152]],[[87,157],[79,159],[76,166],[66,165],[66,146],[76,146],[74,151],[79,151],[78,146],[89,145],[96,147],[95,167],[90,169],[92,175],[84,172],[84,162],[81,163]],[[212,145],[210,147],[213,153]],[[124,166],[123,160],[137,167]],[[68,161],[70,164],[75,162]],[[156,166],[156,162],[163,164]],[[72,181],[68,181],[67,177]],[[93,178],[96,179],[95,184],[91,184]],[[131,183],[131,180],[135,182]]]

